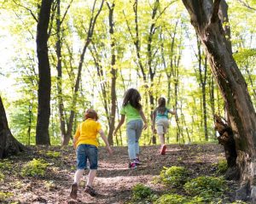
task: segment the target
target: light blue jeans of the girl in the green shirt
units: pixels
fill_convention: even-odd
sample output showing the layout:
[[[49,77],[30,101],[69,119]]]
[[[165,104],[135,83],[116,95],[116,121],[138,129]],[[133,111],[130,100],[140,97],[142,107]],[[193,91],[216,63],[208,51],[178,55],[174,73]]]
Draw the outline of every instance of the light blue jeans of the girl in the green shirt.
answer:
[[[138,140],[140,139],[142,132],[142,120],[131,121],[126,124],[126,134],[128,138],[128,154],[130,160],[136,159],[136,156],[140,152]]]

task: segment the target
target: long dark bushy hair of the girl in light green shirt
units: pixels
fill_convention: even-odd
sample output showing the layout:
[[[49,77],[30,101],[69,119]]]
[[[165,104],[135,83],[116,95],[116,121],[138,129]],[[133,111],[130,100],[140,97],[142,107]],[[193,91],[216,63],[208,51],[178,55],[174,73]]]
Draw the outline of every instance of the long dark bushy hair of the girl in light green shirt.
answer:
[[[129,88],[125,92],[123,106],[127,105],[128,103],[131,104],[132,107],[140,111],[142,109],[142,105],[140,104],[140,100],[142,99],[141,94],[135,88]]]

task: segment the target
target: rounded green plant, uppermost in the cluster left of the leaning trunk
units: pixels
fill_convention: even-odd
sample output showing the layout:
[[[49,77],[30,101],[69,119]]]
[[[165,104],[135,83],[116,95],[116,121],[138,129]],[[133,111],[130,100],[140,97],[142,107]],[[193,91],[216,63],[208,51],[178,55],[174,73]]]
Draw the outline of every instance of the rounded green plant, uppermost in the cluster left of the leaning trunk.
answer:
[[[172,187],[181,187],[186,183],[189,173],[184,167],[164,167],[160,172],[161,180]]]

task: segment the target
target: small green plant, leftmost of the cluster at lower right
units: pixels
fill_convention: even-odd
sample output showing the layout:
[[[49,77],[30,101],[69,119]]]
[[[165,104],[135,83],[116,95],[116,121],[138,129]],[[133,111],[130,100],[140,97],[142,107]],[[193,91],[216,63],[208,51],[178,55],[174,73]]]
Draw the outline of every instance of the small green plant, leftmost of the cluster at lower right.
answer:
[[[143,184],[136,184],[132,188],[132,200],[133,201],[142,201],[147,199],[152,195],[152,190]]]

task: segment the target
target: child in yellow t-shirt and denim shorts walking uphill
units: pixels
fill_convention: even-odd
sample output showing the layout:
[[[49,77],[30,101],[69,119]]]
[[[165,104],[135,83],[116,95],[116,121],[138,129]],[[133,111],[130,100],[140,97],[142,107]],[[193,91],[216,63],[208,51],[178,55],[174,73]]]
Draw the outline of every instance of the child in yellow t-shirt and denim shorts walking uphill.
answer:
[[[97,133],[100,133],[104,143],[106,144],[108,153],[111,155],[111,150],[108,139],[102,131],[100,122],[97,122],[98,116],[96,111],[89,109],[84,114],[85,121],[79,124],[77,131],[73,138],[73,147],[77,155],[77,171],[74,175],[74,182],[71,186],[70,196],[77,199],[79,181],[83,176],[84,169],[86,168],[87,159],[90,162],[90,172],[88,175],[85,192],[95,196],[96,191],[92,188],[92,182],[96,177],[96,170],[98,167],[98,142],[96,139]]]

